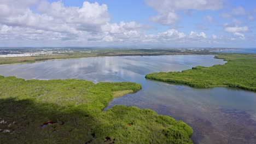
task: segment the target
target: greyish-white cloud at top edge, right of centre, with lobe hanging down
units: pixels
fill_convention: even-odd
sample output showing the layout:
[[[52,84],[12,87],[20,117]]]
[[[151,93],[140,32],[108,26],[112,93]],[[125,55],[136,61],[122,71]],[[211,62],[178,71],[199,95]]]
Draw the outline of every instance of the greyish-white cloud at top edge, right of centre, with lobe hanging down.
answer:
[[[172,26],[178,21],[177,10],[218,10],[223,8],[223,0],[145,0],[145,2],[158,12],[151,20],[162,25]]]

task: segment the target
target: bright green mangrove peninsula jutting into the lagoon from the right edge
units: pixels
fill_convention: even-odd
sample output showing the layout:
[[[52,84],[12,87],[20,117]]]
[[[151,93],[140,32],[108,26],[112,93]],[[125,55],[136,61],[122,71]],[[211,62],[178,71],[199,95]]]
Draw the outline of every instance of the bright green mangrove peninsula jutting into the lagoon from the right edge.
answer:
[[[194,67],[182,72],[153,73],[146,75],[146,78],[199,88],[237,87],[256,91],[256,55],[222,54],[215,58],[228,62],[209,68]]]

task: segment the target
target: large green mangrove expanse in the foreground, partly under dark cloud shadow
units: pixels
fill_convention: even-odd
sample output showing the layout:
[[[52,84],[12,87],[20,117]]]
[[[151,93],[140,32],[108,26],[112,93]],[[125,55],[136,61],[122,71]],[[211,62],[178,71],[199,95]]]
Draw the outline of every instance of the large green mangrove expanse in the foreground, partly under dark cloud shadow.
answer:
[[[192,143],[182,121],[137,107],[102,110],[137,92],[131,82],[0,76],[0,143]]]

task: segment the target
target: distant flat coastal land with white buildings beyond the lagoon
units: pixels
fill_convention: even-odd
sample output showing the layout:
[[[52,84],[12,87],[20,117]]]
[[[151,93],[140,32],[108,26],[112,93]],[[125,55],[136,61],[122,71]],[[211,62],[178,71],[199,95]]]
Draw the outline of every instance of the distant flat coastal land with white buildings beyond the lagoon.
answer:
[[[214,55],[211,49],[2,49],[0,65],[102,56]],[[21,55],[29,53],[26,57]],[[1,56],[2,54],[2,56]],[[15,55],[19,57],[4,57]]]

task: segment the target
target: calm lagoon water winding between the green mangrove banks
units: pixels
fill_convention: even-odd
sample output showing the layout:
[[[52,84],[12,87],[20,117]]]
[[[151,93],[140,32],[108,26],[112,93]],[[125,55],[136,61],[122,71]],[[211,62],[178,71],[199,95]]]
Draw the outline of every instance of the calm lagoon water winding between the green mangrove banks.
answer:
[[[114,99],[114,105],[152,109],[188,123],[195,143],[256,143],[256,93],[231,88],[197,89],[146,80],[148,73],[224,64],[213,56],[125,56],[68,59],[0,66],[0,75],[24,79],[132,81],[142,90]]]

